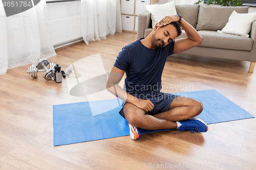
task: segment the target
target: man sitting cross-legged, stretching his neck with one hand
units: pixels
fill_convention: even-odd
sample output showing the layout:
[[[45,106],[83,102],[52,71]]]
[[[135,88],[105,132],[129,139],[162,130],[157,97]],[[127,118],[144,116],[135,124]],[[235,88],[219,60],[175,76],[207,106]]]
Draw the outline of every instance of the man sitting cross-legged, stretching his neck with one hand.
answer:
[[[181,34],[187,38],[174,40]],[[132,139],[141,129],[179,129],[206,132],[208,126],[199,118],[203,106],[198,100],[160,92],[161,76],[167,56],[201,44],[203,38],[181,15],[164,17],[153,31],[125,47],[111,70],[107,88],[123,100],[119,114],[129,123]],[[118,83],[126,73],[125,87]]]

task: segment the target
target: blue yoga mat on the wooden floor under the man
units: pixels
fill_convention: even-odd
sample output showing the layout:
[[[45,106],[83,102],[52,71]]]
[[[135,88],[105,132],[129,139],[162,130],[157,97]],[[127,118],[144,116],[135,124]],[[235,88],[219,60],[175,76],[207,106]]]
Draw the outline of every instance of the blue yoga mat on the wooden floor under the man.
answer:
[[[203,103],[204,110],[197,117],[203,119],[206,124],[254,117],[216,90],[177,94]],[[128,123],[118,113],[121,109],[121,106],[117,105],[120,103],[118,100],[54,105],[54,146],[130,135]],[[94,115],[91,110],[95,109],[109,111]],[[148,132],[154,131],[142,131],[142,133]]]

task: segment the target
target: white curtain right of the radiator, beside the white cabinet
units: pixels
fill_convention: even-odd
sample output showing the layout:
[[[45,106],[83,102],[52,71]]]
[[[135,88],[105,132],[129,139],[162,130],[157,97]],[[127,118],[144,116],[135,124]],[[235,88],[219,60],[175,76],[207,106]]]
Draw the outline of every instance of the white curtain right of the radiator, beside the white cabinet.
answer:
[[[122,32],[120,0],[81,0],[81,27],[87,44]]]

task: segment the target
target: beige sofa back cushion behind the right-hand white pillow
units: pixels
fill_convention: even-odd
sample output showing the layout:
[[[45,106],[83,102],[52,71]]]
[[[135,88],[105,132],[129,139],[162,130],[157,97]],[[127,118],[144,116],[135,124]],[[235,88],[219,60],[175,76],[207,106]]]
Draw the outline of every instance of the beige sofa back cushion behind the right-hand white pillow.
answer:
[[[200,5],[196,30],[222,30],[231,13],[248,13],[249,7],[222,7],[216,5]]]

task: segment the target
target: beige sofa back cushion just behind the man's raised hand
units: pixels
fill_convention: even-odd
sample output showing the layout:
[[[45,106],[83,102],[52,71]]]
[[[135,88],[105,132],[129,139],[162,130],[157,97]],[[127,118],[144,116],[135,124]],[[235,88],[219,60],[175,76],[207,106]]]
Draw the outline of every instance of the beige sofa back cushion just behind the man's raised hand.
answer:
[[[199,5],[175,5],[175,8],[177,14],[180,14],[185,21],[196,28]]]

